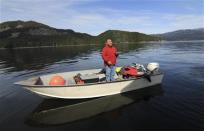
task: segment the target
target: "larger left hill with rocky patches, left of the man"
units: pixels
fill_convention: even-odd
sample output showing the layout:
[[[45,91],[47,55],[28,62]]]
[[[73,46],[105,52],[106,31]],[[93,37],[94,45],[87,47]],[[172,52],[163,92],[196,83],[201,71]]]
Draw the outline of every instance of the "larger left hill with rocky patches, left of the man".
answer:
[[[85,33],[55,29],[34,21],[0,24],[0,47],[5,48],[88,43],[91,38]]]

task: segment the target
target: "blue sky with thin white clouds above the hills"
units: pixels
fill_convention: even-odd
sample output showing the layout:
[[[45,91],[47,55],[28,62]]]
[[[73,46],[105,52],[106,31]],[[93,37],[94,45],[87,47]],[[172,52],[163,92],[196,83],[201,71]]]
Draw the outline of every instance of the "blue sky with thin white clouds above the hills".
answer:
[[[0,21],[34,20],[97,35],[204,27],[204,0],[0,0]]]

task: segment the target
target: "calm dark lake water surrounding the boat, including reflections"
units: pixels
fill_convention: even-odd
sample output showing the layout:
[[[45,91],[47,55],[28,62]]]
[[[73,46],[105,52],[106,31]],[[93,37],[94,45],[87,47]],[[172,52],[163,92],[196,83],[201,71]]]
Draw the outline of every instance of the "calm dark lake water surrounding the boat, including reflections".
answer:
[[[162,85],[88,101],[45,100],[13,83],[102,68],[101,47],[0,50],[0,130],[204,130],[204,41],[118,49],[118,65],[159,62]]]

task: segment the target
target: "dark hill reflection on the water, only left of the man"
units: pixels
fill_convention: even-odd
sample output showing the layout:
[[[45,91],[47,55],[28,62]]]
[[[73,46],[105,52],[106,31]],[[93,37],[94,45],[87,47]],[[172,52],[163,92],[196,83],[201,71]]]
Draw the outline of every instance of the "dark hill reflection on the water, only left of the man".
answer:
[[[89,46],[1,50],[0,60],[3,61],[1,65],[3,65],[4,68],[15,67],[14,70],[8,70],[11,72],[41,69],[59,61],[74,63],[77,62],[77,60],[73,59],[82,57],[90,52],[92,52],[92,50]]]

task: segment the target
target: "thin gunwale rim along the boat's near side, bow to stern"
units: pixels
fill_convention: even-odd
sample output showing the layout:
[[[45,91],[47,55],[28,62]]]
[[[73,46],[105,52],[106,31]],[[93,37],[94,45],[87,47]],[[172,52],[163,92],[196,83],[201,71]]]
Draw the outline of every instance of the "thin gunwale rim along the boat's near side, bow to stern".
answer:
[[[158,74],[152,74],[151,76],[157,76],[157,75],[164,75],[163,72],[159,72]],[[50,85],[29,85],[29,84],[21,84],[21,82],[23,81],[19,81],[19,82],[16,82],[14,84],[16,85],[21,85],[21,86],[26,86],[26,87],[29,87],[29,88],[65,88],[65,87],[81,87],[81,86],[92,86],[92,85],[98,85],[98,84],[112,84],[112,83],[118,83],[118,82],[125,82],[125,81],[135,81],[135,80],[138,80],[138,79],[146,79],[144,76],[141,76],[141,77],[136,77],[136,78],[131,78],[131,79],[123,79],[123,80],[116,80],[116,81],[111,81],[111,82],[97,82],[97,83],[87,83],[87,84],[83,84],[83,85],[80,85],[80,84],[75,84],[75,85],[66,85],[66,86],[63,86],[63,85],[56,85],[56,86],[50,86]],[[30,78],[32,79],[32,78]],[[29,79],[27,80],[24,80],[24,81],[28,81]]]

